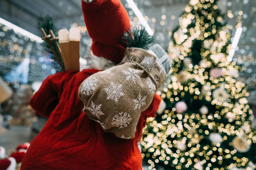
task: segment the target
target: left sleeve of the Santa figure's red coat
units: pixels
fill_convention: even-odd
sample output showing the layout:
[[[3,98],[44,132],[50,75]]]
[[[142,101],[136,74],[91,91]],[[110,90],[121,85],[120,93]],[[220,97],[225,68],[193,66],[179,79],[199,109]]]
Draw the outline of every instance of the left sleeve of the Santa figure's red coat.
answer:
[[[75,71],[64,71],[47,77],[30,99],[29,105],[44,117],[49,117],[58,105],[65,80]]]

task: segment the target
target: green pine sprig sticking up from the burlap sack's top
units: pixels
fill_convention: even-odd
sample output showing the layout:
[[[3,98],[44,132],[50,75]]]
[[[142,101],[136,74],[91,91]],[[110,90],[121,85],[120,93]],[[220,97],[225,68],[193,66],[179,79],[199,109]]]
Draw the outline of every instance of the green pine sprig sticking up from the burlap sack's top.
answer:
[[[150,44],[154,42],[154,36],[149,35],[145,27],[142,25],[132,26],[131,29],[125,32],[122,36],[122,42],[125,47],[143,48],[148,50]]]

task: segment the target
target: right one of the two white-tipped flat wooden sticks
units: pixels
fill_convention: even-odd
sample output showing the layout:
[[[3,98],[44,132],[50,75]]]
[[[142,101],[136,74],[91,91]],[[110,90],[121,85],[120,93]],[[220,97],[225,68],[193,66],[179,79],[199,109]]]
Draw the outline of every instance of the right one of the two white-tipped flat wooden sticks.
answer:
[[[78,28],[70,28],[70,70],[80,70],[80,30]]]

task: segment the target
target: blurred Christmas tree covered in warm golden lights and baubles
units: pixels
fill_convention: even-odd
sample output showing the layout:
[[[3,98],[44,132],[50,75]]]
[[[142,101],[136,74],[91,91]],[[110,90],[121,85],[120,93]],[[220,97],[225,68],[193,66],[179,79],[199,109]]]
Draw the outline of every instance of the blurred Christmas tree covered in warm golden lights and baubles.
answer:
[[[141,141],[150,170],[255,169],[249,93],[228,56],[232,26],[216,1],[190,0],[179,18],[168,49],[172,74],[158,92],[164,109]]]

